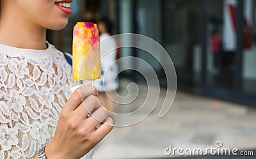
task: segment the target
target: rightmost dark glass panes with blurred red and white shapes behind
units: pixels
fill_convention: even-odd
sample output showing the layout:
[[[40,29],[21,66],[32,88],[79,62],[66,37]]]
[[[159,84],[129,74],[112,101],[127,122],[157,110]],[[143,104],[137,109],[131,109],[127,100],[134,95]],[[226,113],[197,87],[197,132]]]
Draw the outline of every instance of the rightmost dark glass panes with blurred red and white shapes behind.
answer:
[[[255,1],[243,2],[243,22],[237,24],[237,1],[209,1],[207,3],[207,84],[232,90],[238,88],[244,94],[255,94],[255,75],[253,59],[256,59],[253,38],[255,36]],[[212,7],[214,6],[214,7]],[[223,8],[214,11],[214,8]],[[237,48],[237,28],[243,28],[241,48]],[[218,42],[218,36],[220,42]],[[215,47],[215,52],[214,52]],[[239,51],[241,50],[241,51]],[[237,54],[241,59],[236,60]],[[240,63],[239,63],[240,62]],[[237,74],[241,67],[241,75]],[[239,77],[240,76],[240,77]],[[241,82],[236,83],[236,79]],[[239,86],[240,85],[240,86]]]

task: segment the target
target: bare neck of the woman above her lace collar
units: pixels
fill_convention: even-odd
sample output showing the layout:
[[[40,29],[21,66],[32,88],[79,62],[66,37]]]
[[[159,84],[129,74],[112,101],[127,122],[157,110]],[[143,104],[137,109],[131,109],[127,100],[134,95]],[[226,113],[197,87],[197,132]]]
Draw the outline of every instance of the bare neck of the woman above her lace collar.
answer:
[[[15,13],[1,10],[0,43],[22,49],[46,49],[46,29],[15,16]]]

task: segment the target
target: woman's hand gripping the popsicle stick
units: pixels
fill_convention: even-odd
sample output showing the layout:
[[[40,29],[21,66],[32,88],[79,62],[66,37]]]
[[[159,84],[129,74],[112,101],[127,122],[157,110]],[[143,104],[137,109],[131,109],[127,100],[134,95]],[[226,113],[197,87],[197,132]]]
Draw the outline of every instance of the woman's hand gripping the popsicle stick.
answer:
[[[113,120],[97,95],[95,87],[90,85],[74,91],[61,111],[54,137],[45,147],[47,158],[80,158],[112,130]]]

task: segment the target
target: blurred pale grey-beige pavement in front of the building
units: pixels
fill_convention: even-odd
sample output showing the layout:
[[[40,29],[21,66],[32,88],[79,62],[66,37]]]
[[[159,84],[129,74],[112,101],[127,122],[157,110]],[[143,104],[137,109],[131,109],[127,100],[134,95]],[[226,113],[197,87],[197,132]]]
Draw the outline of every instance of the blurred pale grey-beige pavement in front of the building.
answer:
[[[120,94],[125,94],[128,83],[121,81]],[[132,103],[134,107],[147,96],[147,87],[143,84],[139,87],[138,98]],[[159,118],[165,91],[161,90],[159,105],[144,121],[113,128],[95,148],[93,158],[170,158],[164,154],[170,145],[172,148],[206,149],[215,147],[218,140],[223,143],[223,148],[256,148],[256,109],[178,92],[171,110]]]

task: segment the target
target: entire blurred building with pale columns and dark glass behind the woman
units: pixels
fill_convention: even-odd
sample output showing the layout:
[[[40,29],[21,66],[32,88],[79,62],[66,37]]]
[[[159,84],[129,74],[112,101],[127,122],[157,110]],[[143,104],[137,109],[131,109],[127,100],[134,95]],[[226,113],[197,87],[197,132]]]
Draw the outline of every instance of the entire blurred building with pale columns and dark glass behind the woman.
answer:
[[[175,65],[178,89],[256,105],[256,0],[83,0],[72,5],[68,27],[48,33],[58,48],[72,51],[72,26],[77,21],[108,17],[115,24],[113,34],[143,34],[163,45]],[[216,59],[214,29],[221,38]],[[136,49],[122,49],[121,56],[148,61],[164,86],[164,73],[154,57]],[[140,67],[133,61],[120,67],[131,64]]]

